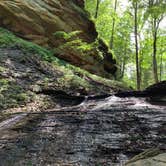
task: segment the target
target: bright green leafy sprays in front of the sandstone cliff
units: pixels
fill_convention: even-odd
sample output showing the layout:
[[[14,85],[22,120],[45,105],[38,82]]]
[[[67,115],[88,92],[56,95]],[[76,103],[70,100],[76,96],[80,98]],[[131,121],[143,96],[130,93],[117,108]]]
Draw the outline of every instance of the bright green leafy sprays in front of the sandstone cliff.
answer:
[[[79,38],[81,31],[66,33],[57,31],[54,33],[56,39],[63,40],[59,47],[54,49],[55,54],[65,54],[69,51],[84,58],[95,58],[99,61],[103,59],[102,53],[98,50],[98,41],[87,43]]]

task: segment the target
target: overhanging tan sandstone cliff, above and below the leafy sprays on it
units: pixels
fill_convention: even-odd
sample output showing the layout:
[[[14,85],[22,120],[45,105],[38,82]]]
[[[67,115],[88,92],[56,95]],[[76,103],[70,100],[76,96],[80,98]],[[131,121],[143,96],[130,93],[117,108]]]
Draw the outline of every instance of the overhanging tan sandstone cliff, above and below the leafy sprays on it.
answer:
[[[97,38],[97,32],[83,7],[83,0],[1,0],[0,26],[50,48],[59,46],[59,41],[53,35],[56,31],[81,31],[79,37],[91,43]],[[91,73],[110,77],[109,74],[116,70],[112,56],[108,58],[106,53],[102,60],[97,60],[93,54],[96,53],[85,58],[69,51],[56,56]]]

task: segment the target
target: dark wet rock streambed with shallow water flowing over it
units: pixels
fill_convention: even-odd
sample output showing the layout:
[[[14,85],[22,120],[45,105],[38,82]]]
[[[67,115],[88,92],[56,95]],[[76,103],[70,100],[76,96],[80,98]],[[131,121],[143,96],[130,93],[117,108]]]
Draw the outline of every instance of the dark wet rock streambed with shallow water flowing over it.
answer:
[[[166,150],[166,107],[109,97],[0,121],[0,165],[122,165]]]

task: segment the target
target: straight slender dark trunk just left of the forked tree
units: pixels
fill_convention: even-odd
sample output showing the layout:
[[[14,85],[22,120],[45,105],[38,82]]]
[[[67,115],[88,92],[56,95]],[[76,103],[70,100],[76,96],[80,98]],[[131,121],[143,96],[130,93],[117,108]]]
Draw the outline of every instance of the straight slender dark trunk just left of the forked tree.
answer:
[[[138,24],[137,24],[137,12],[138,12],[138,4],[135,2],[134,4],[134,35],[135,35],[135,59],[136,59],[136,73],[137,73],[137,90],[140,90],[140,70],[139,70],[139,57],[138,57]]]

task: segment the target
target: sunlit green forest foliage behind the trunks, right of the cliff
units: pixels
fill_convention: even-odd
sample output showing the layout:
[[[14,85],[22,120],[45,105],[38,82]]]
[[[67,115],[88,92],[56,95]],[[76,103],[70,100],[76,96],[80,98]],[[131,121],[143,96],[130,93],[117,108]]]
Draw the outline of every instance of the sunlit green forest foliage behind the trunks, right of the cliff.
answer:
[[[96,11],[96,0],[86,0],[86,10],[89,11],[94,19]],[[117,78],[123,79],[128,85],[135,88],[136,69],[135,69],[135,41],[134,41],[134,7],[138,5],[138,45],[139,45],[139,65],[141,70],[141,86],[147,87],[153,82],[152,53],[153,53],[153,34],[158,28],[157,36],[157,62],[158,75],[160,80],[166,79],[165,61],[165,32],[164,27],[159,23],[165,18],[166,2],[164,0],[128,0],[128,4],[118,0],[117,12],[114,12],[114,1],[102,0],[100,2],[98,17],[95,19],[96,28],[99,36],[104,38],[107,43],[111,39],[113,19],[115,20],[114,48],[112,52],[117,59],[119,71]],[[127,6],[126,6],[127,5]],[[122,7],[121,7],[122,6]],[[126,9],[124,10],[124,8]],[[160,33],[162,31],[162,33]],[[122,75],[124,65],[124,75]],[[122,78],[121,78],[122,76]]]

